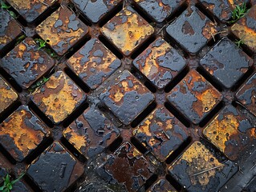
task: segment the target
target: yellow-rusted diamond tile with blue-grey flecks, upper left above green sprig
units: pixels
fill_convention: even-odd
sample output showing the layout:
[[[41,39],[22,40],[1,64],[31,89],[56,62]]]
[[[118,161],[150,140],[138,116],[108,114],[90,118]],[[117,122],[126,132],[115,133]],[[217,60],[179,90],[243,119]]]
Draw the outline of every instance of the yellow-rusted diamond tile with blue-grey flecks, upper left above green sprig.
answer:
[[[61,6],[36,27],[36,32],[49,41],[57,54],[63,55],[87,34],[88,27],[66,6]]]

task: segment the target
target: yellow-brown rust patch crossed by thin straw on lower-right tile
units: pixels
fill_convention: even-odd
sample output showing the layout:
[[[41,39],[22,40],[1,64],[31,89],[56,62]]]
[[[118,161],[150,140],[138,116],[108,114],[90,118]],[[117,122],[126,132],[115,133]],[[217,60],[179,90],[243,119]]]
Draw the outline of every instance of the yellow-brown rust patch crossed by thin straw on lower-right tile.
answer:
[[[216,172],[224,166],[221,162],[218,162],[217,158],[201,142],[193,142],[176,163],[179,164],[182,160],[188,163],[185,171],[189,175],[193,186],[197,185],[198,182],[201,186],[206,186],[209,183],[209,179],[215,177]],[[214,167],[217,168],[212,169]],[[201,173],[203,171],[205,172]]]

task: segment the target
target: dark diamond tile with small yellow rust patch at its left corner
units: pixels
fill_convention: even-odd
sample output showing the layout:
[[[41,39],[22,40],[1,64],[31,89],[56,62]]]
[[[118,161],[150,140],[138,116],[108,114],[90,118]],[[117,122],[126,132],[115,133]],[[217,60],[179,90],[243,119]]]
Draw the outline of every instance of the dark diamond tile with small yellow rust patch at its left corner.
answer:
[[[92,158],[105,150],[120,135],[120,131],[92,106],[72,122],[63,135],[86,158]]]

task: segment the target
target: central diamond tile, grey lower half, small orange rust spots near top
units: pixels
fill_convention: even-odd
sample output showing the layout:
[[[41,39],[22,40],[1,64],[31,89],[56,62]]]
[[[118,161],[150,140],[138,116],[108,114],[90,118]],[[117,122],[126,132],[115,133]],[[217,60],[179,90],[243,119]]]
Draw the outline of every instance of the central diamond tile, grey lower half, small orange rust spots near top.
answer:
[[[128,70],[124,70],[100,94],[100,100],[124,125],[130,124],[154,98],[154,95]]]

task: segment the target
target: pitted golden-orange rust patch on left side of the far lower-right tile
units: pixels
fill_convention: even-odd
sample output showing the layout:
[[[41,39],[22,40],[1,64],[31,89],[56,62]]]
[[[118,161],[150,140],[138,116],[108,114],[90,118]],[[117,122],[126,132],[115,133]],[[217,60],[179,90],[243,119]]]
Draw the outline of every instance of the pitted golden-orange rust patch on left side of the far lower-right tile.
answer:
[[[238,120],[233,114],[226,115],[221,121],[218,121],[217,117],[213,119],[209,126],[206,126],[203,134],[224,153],[226,142],[230,140],[230,136],[239,134],[237,130]]]

